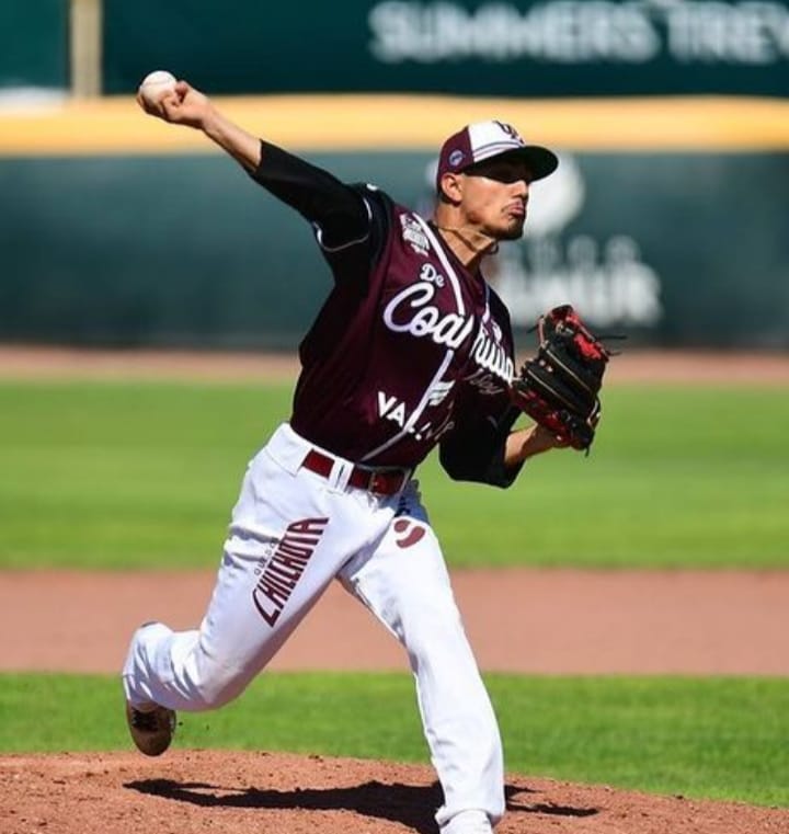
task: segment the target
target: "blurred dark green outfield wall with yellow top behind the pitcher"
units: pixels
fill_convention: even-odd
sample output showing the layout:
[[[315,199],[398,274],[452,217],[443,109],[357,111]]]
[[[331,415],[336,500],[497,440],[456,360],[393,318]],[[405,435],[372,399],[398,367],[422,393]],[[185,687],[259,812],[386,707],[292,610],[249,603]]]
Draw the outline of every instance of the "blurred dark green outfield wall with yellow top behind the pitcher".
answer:
[[[488,264],[516,327],[571,300],[631,344],[789,349],[787,102],[222,104],[425,210],[433,148],[506,117],[561,156],[528,235]],[[291,349],[330,286],[298,216],[128,99],[0,116],[0,341]]]

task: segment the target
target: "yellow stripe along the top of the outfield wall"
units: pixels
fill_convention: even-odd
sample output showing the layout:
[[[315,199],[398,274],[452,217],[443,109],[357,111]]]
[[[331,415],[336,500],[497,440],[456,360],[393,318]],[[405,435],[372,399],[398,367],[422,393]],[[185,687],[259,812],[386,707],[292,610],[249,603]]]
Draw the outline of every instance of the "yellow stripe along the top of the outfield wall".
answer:
[[[254,134],[300,150],[434,150],[458,127],[512,122],[569,150],[786,150],[789,101],[720,96],[514,100],[415,95],[217,98]],[[213,152],[197,132],[145,116],[132,96],[0,110],[0,156]]]

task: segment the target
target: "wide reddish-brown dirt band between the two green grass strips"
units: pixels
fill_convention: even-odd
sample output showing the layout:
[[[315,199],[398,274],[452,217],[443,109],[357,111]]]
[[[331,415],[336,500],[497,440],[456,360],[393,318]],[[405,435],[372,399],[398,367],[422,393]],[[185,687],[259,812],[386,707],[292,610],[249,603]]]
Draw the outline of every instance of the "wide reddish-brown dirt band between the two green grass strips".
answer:
[[[0,572],[0,671],[114,674],[148,619],[199,622],[215,574]],[[453,585],[485,671],[789,676],[789,572],[467,570]],[[272,670],[405,671],[339,584]]]

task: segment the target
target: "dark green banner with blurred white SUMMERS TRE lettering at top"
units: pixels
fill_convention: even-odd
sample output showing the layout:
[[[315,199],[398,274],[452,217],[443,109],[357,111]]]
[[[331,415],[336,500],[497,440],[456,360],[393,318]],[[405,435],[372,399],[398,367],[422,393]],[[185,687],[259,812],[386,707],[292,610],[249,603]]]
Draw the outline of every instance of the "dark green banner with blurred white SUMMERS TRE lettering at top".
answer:
[[[105,0],[103,55],[107,93],[786,96],[789,2]]]

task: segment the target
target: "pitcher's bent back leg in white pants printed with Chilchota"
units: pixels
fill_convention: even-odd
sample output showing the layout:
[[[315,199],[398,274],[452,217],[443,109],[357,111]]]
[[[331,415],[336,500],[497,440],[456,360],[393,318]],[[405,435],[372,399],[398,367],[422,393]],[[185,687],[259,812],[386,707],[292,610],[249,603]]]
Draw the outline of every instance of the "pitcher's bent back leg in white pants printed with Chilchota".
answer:
[[[199,629],[138,629],[124,666],[127,701],[141,710],[203,710],[237,697],[366,540],[352,501],[318,476],[285,471],[259,454]]]

